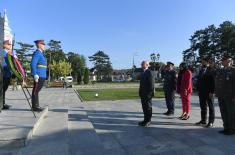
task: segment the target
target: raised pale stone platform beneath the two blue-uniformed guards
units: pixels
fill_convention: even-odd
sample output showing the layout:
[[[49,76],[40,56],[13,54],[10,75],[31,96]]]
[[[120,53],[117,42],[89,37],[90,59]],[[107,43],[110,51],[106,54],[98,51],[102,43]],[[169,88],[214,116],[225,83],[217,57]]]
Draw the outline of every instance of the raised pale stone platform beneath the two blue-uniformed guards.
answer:
[[[48,113],[48,107],[34,117],[32,111],[22,101],[0,114],[0,150],[24,147],[32,138]]]

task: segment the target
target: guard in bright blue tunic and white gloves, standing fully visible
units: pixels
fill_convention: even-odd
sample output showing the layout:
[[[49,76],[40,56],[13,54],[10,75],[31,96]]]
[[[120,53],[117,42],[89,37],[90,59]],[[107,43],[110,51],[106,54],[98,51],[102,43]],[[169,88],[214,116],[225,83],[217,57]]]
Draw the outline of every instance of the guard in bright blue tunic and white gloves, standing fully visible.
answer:
[[[42,89],[44,81],[46,80],[46,57],[43,54],[45,50],[44,40],[36,40],[34,43],[37,46],[37,50],[33,53],[31,61],[31,75],[34,78],[34,85],[32,91],[32,108],[34,111],[42,111],[43,108],[39,106],[39,91]]]

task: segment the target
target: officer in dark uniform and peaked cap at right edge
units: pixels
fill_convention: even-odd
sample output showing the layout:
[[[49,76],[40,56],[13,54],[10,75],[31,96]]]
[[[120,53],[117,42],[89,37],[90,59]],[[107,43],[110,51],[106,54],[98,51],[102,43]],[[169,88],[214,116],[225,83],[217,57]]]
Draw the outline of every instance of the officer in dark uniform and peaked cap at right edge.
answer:
[[[235,68],[232,67],[232,58],[224,55],[223,68],[216,73],[216,95],[219,101],[221,117],[225,135],[235,134]]]

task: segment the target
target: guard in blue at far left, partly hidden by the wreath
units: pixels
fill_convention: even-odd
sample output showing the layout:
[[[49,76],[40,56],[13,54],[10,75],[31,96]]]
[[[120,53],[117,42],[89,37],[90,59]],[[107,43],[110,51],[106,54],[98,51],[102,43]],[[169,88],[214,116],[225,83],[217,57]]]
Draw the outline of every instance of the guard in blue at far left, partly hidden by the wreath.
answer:
[[[3,109],[9,109],[10,106],[5,104],[5,94],[10,85],[12,72],[7,64],[7,54],[15,56],[12,52],[12,43],[9,40],[3,42]]]

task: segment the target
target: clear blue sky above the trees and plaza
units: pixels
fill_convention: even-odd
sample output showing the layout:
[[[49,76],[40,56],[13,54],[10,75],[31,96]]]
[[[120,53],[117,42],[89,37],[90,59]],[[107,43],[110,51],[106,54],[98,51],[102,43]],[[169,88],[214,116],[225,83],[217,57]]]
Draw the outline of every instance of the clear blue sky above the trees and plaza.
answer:
[[[150,54],[182,61],[190,36],[208,25],[235,22],[234,0],[0,0],[16,41],[60,40],[87,58],[98,50],[114,69],[140,66]]]

